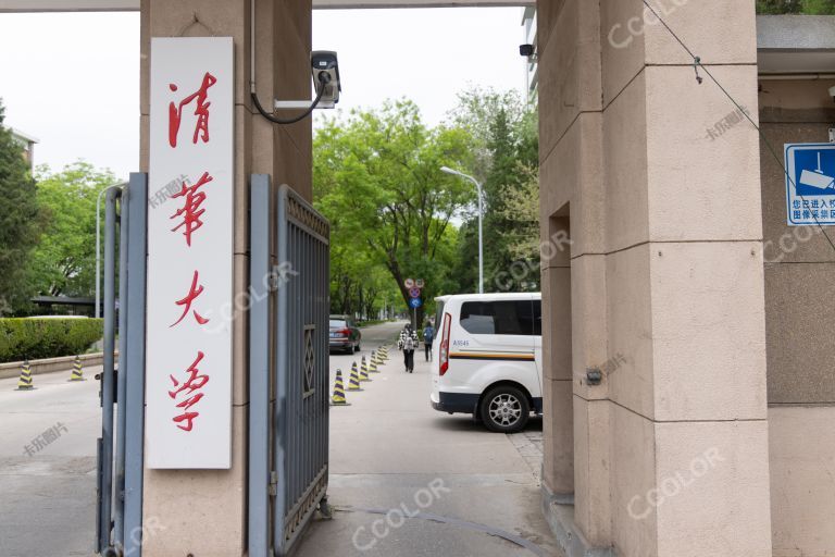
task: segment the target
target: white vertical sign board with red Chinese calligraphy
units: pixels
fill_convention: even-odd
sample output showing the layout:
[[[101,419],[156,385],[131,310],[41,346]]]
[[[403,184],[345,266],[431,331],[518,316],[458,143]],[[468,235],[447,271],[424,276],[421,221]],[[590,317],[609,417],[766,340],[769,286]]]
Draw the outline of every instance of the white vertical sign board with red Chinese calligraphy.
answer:
[[[232,465],[233,41],[151,39],[146,458]]]

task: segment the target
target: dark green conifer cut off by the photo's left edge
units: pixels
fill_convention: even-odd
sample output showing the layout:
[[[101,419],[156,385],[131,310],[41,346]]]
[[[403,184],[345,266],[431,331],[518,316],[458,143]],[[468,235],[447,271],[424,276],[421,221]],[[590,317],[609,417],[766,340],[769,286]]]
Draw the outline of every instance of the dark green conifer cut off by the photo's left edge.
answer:
[[[4,112],[0,101],[0,315],[25,309],[35,292],[25,278],[38,226],[35,181],[21,146],[3,126]]]

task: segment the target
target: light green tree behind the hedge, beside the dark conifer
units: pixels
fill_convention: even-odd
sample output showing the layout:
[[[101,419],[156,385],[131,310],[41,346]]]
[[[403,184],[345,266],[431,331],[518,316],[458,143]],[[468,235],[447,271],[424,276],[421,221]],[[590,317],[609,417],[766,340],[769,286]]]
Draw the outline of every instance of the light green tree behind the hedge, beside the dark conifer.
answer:
[[[116,183],[110,171],[76,162],[61,172],[38,166],[37,199],[46,215],[30,259],[30,282],[47,296],[91,296],[96,289],[96,198]]]

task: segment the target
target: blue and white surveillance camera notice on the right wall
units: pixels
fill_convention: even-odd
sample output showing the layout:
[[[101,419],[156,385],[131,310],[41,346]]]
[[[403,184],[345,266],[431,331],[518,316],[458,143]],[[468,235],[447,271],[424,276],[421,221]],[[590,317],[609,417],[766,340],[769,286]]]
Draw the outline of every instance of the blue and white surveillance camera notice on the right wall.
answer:
[[[835,144],[785,147],[788,225],[835,225]]]

